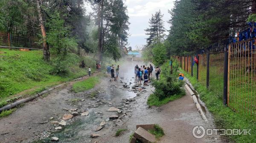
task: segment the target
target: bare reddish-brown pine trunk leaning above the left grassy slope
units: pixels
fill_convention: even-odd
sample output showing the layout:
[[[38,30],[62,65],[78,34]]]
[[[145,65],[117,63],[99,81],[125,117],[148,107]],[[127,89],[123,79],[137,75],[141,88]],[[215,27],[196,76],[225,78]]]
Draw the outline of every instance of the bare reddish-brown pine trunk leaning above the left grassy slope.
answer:
[[[42,37],[43,37],[44,60],[49,61],[50,60],[50,51],[49,51],[49,45],[46,41],[46,31],[45,31],[45,27],[44,27],[43,14],[41,11],[41,1],[36,0],[36,2],[37,2],[37,9],[38,9],[38,17],[39,17],[39,22],[40,22],[40,27],[41,27]]]

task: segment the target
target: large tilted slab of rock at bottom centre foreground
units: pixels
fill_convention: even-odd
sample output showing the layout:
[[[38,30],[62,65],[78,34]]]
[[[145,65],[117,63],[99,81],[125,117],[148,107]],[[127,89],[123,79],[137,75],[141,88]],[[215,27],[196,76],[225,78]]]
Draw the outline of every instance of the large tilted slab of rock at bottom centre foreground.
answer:
[[[145,129],[139,127],[134,132],[134,137],[138,140],[142,141],[143,143],[154,143],[156,141],[154,135],[146,131]]]

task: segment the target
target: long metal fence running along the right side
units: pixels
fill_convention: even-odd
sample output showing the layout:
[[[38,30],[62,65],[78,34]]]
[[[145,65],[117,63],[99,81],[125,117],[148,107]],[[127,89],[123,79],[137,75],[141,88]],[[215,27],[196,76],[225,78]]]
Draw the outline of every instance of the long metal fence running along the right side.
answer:
[[[228,51],[175,59],[231,109],[256,115],[256,38],[230,44]]]

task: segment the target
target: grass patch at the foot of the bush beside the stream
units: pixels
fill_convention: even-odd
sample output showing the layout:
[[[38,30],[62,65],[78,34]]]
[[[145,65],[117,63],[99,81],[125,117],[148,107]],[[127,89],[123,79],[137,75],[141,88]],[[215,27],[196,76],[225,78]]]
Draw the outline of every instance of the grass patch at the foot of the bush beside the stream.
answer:
[[[157,107],[159,107],[159,106],[162,106],[162,105],[164,105],[164,104],[167,104],[167,103],[169,103],[170,101],[174,101],[174,100],[176,100],[176,99],[178,99],[178,98],[181,98],[183,95],[172,95],[172,96],[170,96],[170,97],[167,97],[167,98],[165,98],[165,99],[163,99],[163,100],[160,100],[156,95],[154,95],[154,94],[151,94],[151,95],[149,95],[149,97],[148,97],[148,101],[147,101],[147,104],[148,104],[148,106],[157,106]]]

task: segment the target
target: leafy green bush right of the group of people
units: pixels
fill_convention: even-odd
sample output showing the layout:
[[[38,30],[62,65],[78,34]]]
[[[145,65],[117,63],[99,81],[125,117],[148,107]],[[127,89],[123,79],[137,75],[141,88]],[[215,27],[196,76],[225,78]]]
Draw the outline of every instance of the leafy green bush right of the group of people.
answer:
[[[154,95],[159,101],[173,95],[184,95],[183,81],[177,79],[177,66],[173,66],[173,74],[170,73],[169,63],[166,62],[161,66],[160,80],[154,80],[152,85],[155,87]]]

